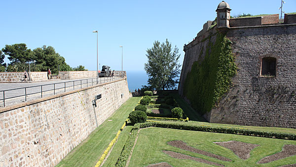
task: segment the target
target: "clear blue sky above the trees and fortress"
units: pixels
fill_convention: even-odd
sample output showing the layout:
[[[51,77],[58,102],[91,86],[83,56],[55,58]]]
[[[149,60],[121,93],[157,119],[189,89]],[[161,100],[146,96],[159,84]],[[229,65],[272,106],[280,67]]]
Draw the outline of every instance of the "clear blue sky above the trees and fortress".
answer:
[[[296,12],[296,0],[285,0],[284,11]],[[29,49],[52,46],[71,67],[96,70],[99,63],[121,70],[143,71],[146,50],[167,38],[183,46],[207,20],[214,20],[221,0],[1,0],[0,49],[26,43]],[[281,0],[226,0],[231,15],[276,14]],[[9,62],[5,58],[5,62]]]

